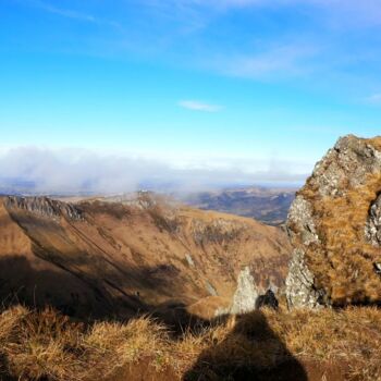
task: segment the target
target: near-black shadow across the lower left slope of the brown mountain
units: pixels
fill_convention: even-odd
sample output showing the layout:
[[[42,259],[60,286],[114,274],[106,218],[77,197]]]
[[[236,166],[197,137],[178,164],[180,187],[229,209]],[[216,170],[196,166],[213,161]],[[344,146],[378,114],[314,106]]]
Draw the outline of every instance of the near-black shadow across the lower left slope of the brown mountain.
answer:
[[[147,286],[160,293],[161,287],[167,284],[155,276],[147,280],[145,271],[149,272],[150,269],[140,269],[140,272],[124,269],[125,283],[118,279],[113,288],[106,276],[89,278],[79,272],[62,270],[60,267],[57,271],[34,268],[21,256],[0,258],[0,312],[14,305],[37,310],[53,307],[74,321],[85,324],[94,321],[127,322],[131,318],[148,315],[163,323],[174,335],[208,324],[208,321],[188,314],[185,304],[181,302],[172,299],[165,304],[150,305],[123,290],[120,293],[111,292],[115,287],[124,288],[131,278],[142,278],[146,279]]]

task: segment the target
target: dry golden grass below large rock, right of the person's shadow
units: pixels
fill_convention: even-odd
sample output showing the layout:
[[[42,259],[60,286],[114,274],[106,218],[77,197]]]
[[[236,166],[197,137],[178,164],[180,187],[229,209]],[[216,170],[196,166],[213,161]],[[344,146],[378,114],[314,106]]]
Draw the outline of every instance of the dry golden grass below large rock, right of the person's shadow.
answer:
[[[272,330],[300,359],[346,364],[348,379],[381,379],[381,311],[352,307],[335,311],[267,314]]]

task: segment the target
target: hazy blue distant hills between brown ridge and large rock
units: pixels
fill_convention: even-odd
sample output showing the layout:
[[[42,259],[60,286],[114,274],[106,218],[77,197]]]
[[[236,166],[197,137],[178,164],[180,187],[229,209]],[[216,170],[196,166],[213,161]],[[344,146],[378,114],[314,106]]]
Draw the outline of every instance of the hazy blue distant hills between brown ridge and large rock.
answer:
[[[281,225],[287,218],[295,192],[295,188],[247,187],[176,197],[182,202],[199,209],[250,217],[270,225]]]

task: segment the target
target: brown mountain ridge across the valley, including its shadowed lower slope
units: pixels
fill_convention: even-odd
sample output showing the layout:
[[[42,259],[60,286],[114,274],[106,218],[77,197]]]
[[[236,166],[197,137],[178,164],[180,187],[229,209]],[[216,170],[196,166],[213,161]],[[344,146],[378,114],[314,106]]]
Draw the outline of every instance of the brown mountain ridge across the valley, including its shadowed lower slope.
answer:
[[[167,202],[0,198],[0,298],[78,318],[230,303],[249,267],[282,286],[290,259],[278,228]],[[201,302],[200,302],[201,300]]]

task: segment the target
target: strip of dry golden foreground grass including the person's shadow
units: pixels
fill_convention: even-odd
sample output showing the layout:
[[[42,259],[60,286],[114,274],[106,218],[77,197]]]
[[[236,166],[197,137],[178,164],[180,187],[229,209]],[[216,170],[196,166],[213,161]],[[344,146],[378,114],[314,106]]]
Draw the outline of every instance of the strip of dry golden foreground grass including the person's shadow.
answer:
[[[371,307],[263,309],[180,336],[148,317],[85,327],[49,308],[16,306],[0,315],[1,380],[127,380],[121,372],[142,364],[158,379],[168,369],[174,380],[239,379],[238,370],[262,372],[292,360],[300,368],[337,364],[345,380],[378,380],[380,359],[381,310]]]

